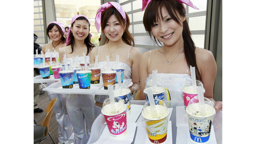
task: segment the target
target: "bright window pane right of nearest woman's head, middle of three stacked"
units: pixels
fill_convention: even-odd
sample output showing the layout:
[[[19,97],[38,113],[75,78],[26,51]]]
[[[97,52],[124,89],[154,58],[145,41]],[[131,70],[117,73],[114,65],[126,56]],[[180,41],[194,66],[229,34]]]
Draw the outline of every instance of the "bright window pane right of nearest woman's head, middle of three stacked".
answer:
[[[188,25],[189,29],[192,30],[205,30],[206,16],[189,17]]]

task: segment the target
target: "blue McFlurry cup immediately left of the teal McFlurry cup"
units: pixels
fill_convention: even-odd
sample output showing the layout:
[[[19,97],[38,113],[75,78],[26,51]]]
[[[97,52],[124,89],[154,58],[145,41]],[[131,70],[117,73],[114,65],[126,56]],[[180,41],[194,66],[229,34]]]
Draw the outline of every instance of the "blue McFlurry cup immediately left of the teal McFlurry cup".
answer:
[[[59,71],[62,88],[73,88],[74,71],[68,72]]]

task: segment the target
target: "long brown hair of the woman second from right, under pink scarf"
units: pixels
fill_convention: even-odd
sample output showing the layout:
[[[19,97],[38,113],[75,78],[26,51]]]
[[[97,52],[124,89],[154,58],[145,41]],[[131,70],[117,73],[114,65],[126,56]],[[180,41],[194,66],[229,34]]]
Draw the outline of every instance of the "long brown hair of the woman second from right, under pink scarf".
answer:
[[[119,13],[119,11],[115,7],[110,7],[108,9],[104,10],[103,13],[101,14],[101,32],[104,34],[104,28],[106,27],[108,19],[112,15],[116,16],[116,18],[119,21],[120,25],[124,29],[124,34],[122,35],[122,40],[126,44],[134,47],[134,39],[132,37],[132,34],[129,32],[129,26],[130,26],[129,16],[125,12],[125,15],[126,15],[126,22],[125,22],[125,20],[123,19],[122,15]],[[125,23],[126,23],[126,26],[125,26]],[[106,42],[109,42],[109,39],[107,37],[105,37],[105,40],[104,40],[103,44],[106,43]]]

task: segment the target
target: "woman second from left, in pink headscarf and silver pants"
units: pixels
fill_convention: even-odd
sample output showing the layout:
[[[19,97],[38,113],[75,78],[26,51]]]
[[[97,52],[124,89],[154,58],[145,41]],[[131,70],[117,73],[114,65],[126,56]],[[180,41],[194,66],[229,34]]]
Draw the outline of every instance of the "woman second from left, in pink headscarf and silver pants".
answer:
[[[71,27],[68,30],[67,46],[60,49],[60,61],[66,54],[67,59],[78,55],[78,61],[83,60],[83,53],[88,58],[94,45],[91,43],[91,23],[86,16],[76,15],[72,18]],[[66,97],[66,108],[74,127],[74,142],[86,144],[91,133],[94,116],[94,95],[84,94],[59,94]],[[87,129],[86,129],[87,126]],[[88,131],[87,131],[88,130]]]

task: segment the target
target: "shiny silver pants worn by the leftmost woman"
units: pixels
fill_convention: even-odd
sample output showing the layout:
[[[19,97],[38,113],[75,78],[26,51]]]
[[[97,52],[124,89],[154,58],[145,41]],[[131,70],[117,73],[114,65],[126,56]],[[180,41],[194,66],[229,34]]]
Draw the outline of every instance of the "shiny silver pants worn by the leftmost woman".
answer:
[[[59,142],[64,144],[74,144],[74,128],[71,125],[66,108],[66,95],[65,94],[49,94],[50,99],[57,97],[54,105],[56,113],[56,121],[58,123],[58,139]]]

